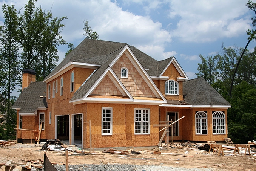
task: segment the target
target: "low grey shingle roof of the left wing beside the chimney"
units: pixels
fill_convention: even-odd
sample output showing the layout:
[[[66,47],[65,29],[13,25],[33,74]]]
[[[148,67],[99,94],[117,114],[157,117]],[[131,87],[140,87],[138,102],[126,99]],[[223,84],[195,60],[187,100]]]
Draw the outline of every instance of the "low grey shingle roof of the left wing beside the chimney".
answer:
[[[38,109],[46,110],[46,83],[42,81],[31,82],[20,93],[12,108],[20,109],[20,115],[37,115]]]

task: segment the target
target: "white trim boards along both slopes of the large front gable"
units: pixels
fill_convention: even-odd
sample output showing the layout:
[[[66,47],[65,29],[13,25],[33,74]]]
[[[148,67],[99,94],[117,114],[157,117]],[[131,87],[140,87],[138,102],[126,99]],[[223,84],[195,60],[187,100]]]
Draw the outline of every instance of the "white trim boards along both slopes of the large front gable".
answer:
[[[127,53],[127,51],[129,53]],[[126,56],[129,58],[131,63],[133,63],[133,66],[137,69],[137,71],[140,73],[144,81],[148,84],[150,89],[153,91],[153,93],[157,96],[157,98],[161,98],[167,103],[167,100],[165,97],[162,95],[160,90],[156,87],[156,84],[153,82],[153,80],[150,78],[146,70],[142,67],[142,65],[139,63],[133,52],[131,51],[130,47],[126,45],[122,51],[116,56],[116,58],[111,62],[109,65],[110,67],[113,67],[113,65],[116,63],[117,60],[123,55],[123,53],[126,54]]]

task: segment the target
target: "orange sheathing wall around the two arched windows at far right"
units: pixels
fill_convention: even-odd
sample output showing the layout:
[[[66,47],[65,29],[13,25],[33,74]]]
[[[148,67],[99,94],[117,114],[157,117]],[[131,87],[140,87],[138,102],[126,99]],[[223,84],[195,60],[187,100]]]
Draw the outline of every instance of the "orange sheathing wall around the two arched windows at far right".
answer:
[[[195,126],[195,114],[197,111],[206,111],[207,112],[207,135],[196,135],[196,126]],[[225,113],[225,128],[226,128],[226,134],[219,134],[219,135],[213,135],[213,118],[212,118],[212,112],[214,111],[223,111]],[[226,109],[193,109],[193,141],[224,141],[224,138],[227,137],[227,110]]]

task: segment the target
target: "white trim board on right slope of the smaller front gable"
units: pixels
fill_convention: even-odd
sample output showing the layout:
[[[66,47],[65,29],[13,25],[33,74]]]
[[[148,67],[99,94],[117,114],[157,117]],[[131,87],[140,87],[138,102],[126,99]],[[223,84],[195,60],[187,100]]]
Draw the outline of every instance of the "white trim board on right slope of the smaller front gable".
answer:
[[[123,96],[128,96],[130,99],[133,99],[133,96],[129,93],[129,91],[120,81],[120,79],[117,77],[117,75],[114,73],[111,67],[109,67],[109,72],[107,72],[107,75],[109,76],[111,81],[115,84],[117,89],[122,93]]]

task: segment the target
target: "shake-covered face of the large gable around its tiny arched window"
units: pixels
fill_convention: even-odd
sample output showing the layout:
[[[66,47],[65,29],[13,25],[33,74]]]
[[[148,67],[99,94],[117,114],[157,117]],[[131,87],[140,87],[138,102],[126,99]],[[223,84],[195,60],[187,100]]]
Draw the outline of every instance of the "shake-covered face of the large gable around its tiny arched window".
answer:
[[[121,69],[123,67],[128,69],[128,78],[121,78]],[[125,54],[119,58],[112,69],[132,96],[156,97]]]

